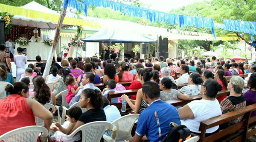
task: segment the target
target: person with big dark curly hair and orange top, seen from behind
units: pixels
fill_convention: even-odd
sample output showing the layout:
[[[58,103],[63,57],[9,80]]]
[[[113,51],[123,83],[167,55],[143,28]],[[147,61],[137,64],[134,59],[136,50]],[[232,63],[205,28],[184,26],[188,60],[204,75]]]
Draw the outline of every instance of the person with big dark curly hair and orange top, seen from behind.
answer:
[[[116,75],[116,68],[112,63],[106,64],[106,66],[104,67],[104,76],[102,78],[102,83],[104,84],[106,81],[110,79],[119,82],[119,77],[118,75]]]

